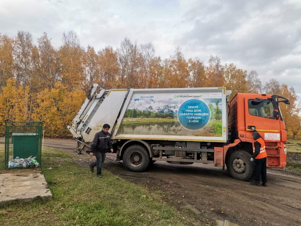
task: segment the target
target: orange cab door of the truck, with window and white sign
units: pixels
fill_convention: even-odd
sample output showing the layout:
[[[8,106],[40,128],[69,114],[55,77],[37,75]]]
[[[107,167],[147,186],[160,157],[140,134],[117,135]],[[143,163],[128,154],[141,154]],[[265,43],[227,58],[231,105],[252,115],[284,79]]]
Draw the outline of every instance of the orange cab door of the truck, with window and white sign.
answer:
[[[255,127],[265,141],[280,141],[280,119],[276,119],[274,110],[272,100],[245,97],[246,131]],[[246,137],[252,139],[252,133],[246,132]]]

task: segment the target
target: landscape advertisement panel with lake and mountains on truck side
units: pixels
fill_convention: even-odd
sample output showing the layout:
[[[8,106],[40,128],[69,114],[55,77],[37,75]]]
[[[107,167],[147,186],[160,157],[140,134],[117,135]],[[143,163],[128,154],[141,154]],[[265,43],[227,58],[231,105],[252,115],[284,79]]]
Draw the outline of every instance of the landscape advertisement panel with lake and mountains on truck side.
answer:
[[[118,134],[222,138],[222,93],[133,94]]]

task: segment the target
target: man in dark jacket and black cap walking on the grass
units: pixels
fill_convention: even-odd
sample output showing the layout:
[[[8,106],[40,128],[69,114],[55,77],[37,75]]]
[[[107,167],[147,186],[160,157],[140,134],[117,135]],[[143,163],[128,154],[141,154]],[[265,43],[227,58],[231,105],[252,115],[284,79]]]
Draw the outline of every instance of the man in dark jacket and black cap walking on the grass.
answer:
[[[89,164],[90,170],[93,173],[94,167],[97,166],[97,177],[101,177],[101,166],[104,163],[106,157],[107,148],[113,153],[113,145],[108,132],[110,129],[109,124],[104,124],[102,130],[95,134],[95,137],[91,143],[91,152],[89,155],[95,155],[96,161]]]

